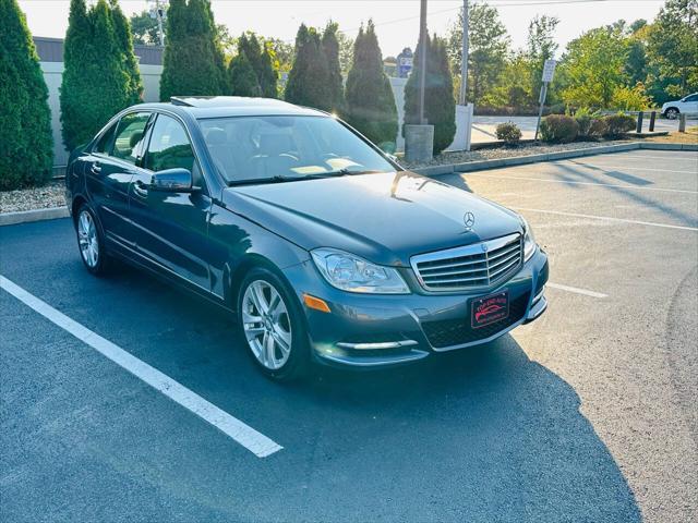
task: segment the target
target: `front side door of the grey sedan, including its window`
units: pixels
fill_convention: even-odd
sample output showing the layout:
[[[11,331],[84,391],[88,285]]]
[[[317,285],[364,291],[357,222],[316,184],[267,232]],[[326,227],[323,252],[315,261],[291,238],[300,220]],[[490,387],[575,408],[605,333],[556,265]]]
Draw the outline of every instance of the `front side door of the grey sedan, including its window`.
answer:
[[[193,192],[149,188],[153,174],[184,168],[192,172]],[[208,196],[191,139],[181,121],[157,114],[148,145],[129,187],[129,216],[140,255],[160,268],[210,290],[208,267]]]

